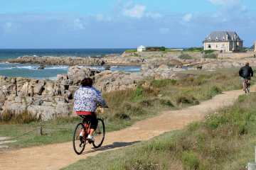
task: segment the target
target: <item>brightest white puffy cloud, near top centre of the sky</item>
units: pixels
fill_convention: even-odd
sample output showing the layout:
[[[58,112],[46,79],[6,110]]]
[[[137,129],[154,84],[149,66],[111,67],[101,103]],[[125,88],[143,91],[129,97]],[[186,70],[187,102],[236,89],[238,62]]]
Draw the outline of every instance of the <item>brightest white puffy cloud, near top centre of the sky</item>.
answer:
[[[131,4],[129,3],[128,5],[124,5],[124,9],[122,11],[124,16],[131,16],[135,18],[142,18],[144,11],[146,10],[146,6],[136,4],[134,8],[127,9],[126,7],[130,6]]]

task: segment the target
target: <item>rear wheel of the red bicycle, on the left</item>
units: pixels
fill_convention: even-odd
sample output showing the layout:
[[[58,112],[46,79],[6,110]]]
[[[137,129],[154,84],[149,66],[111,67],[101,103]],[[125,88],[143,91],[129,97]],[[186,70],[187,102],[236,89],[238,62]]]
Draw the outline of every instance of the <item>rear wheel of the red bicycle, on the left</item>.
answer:
[[[73,134],[73,148],[77,154],[82,154],[83,150],[85,149],[85,140],[82,140],[82,137],[80,137],[80,132],[82,129],[85,130],[85,126],[82,125],[82,123],[78,123]]]

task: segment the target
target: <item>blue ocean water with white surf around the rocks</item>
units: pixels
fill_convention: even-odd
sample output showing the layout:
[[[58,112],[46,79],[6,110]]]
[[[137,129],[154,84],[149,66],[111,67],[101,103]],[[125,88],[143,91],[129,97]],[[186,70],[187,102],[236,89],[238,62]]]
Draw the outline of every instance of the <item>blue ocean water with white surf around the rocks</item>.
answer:
[[[28,56],[97,56],[119,54],[126,48],[91,48],[91,49],[0,49],[0,60],[8,60],[24,55]],[[50,79],[54,80],[58,74],[67,74],[69,66],[49,66],[45,69],[37,69],[40,64],[15,64],[15,63],[0,63],[0,76],[5,77],[27,77],[31,79]],[[89,67],[90,69],[105,70],[105,67]],[[187,68],[185,68],[187,69]],[[112,71],[122,72],[140,72],[140,67],[110,67]]]

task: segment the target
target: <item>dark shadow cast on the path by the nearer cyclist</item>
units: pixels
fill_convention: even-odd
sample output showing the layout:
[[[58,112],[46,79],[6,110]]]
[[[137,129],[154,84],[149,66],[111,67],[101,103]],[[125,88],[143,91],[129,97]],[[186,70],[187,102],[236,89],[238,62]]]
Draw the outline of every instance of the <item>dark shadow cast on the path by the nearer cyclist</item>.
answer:
[[[87,151],[87,152],[83,152],[82,154],[90,154],[92,152],[97,152],[97,151],[105,151],[108,149],[114,149],[114,148],[118,148],[118,147],[127,147],[129,145],[133,145],[135,143],[139,143],[142,141],[134,141],[134,142],[114,142],[112,145],[106,145],[100,148],[95,149],[94,147],[92,147],[92,150]],[[88,145],[88,144],[87,144]],[[91,146],[91,145],[90,145]],[[85,145],[86,147],[86,145]]]

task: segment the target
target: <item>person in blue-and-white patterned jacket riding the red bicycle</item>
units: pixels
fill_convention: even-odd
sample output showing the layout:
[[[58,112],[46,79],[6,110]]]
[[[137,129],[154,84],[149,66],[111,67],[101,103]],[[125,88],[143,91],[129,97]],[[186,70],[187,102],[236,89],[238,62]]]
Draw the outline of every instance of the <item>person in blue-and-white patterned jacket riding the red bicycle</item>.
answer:
[[[107,104],[105,100],[100,95],[100,91],[96,90],[92,87],[92,79],[85,78],[81,81],[81,87],[75,91],[74,94],[74,110],[78,115],[90,115],[86,116],[82,123],[90,121],[91,123],[91,130],[90,134],[87,136],[87,140],[90,142],[94,142],[92,137],[93,132],[97,128],[97,118],[95,115],[95,111],[97,105],[107,108]],[[80,136],[83,135],[83,130],[80,132]]]

